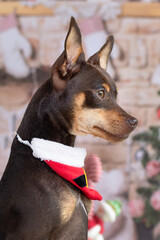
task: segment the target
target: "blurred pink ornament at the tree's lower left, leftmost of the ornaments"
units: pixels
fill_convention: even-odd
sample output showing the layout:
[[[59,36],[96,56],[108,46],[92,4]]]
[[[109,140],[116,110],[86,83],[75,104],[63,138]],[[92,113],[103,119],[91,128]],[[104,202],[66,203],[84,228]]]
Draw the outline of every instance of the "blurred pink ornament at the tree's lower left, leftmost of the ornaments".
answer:
[[[129,213],[133,218],[143,216],[145,203],[142,199],[134,199],[129,202]]]

